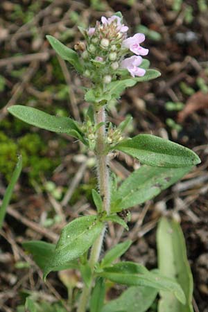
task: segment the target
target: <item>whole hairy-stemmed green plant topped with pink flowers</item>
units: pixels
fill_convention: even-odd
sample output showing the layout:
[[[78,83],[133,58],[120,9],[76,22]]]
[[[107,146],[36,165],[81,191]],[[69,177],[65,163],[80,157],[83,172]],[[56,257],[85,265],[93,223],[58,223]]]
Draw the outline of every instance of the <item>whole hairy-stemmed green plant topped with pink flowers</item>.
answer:
[[[157,196],[191,171],[200,159],[188,148],[154,135],[125,137],[124,130],[130,118],[118,127],[107,121],[110,101],[118,99],[127,87],[160,76],[158,71],[149,69],[149,61],[143,58],[148,54],[148,49],[142,45],[144,34],[128,37],[128,26],[123,24],[120,12],[110,18],[101,17],[94,27],[79,29],[84,40],[78,42],[74,50],[51,35],[47,39],[63,60],[91,82],[85,93],[85,101],[89,103],[85,121],[80,123],[69,117],[51,116],[22,105],[10,107],[9,112],[39,128],[71,135],[94,151],[98,187],[92,190],[92,197],[97,211],[94,215],[86,211],[86,216],[67,224],[56,245],[29,241],[24,243],[24,248],[33,254],[43,270],[44,279],[51,271],[80,270],[83,289],[78,301],[71,301],[71,311],[146,311],[158,291],[170,292],[179,304],[184,305],[186,296],[174,279],[161,275],[159,270],[150,271],[139,263],[114,262],[128,250],[131,241],[119,243],[105,254],[101,250],[107,221],[128,229],[126,209]],[[114,150],[135,157],[141,163],[141,167],[121,184],[109,169],[110,154]],[[117,301],[106,303],[107,281],[123,284],[128,289]]]

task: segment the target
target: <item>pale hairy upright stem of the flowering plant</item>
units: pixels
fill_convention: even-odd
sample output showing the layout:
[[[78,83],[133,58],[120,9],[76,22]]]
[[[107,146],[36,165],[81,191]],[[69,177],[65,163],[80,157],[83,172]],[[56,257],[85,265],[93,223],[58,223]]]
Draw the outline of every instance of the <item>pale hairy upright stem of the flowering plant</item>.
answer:
[[[94,110],[94,119],[96,125],[99,123],[105,123],[105,107],[98,107]],[[97,161],[97,175],[98,175],[98,187],[103,199],[103,211],[110,214],[110,180],[109,180],[109,170],[108,170],[108,155],[105,153],[105,124],[97,131],[96,137],[96,161]],[[89,266],[92,269],[92,275],[94,272],[94,266],[98,261],[101,253],[101,248],[103,245],[103,238],[105,234],[105,225],[103,225],[103,230],[98,236],[94,245],[92,245],[92,250],[89,257]],[[89,300],[89,295],[92,290],[92,281],[89,286],[83,287],[83,293],[80,295],[80,302],[77,312],[85,312],[87,308],[87,302]]]

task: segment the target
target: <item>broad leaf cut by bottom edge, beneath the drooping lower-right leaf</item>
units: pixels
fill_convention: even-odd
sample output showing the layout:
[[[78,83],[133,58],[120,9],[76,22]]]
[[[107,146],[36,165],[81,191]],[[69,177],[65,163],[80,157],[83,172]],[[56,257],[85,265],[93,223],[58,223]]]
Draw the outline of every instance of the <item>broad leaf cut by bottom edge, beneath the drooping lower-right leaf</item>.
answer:
[[[122,295],[103,306],[102,312],[123,311],[145,312],[153,304],[157,291],[155,288],[131,286]]]

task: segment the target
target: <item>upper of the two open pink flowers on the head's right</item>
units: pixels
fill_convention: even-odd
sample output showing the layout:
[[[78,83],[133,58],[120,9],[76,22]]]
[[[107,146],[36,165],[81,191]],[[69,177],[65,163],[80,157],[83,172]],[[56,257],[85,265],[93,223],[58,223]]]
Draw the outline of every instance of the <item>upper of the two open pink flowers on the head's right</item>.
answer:
[[[122,46],[130,49],[130,51],[137,55],[147,55],[149,50],[140,46],[141,42],[144,42],[144,40],[145,35],[143,33],[136,33],[133,37],[123,40]]]

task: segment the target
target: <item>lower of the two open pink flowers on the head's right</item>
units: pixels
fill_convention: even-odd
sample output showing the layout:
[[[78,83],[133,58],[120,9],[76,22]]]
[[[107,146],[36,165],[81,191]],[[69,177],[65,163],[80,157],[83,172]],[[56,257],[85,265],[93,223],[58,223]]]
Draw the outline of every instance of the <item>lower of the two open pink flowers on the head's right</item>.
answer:
[[[139,68],[138,66],[141,65],[142,62],[141,56],[133,55],[130,58],[125,58],[121,62],[121,68],[127,69],[132,77],[135,78],[135,76],[144,76],[146,73],[146,70],[143,68]]]

